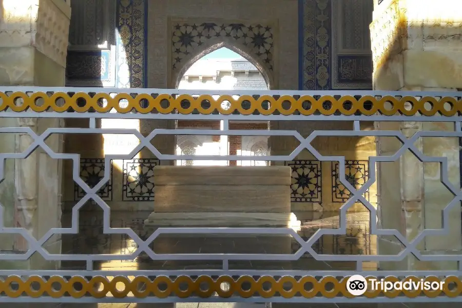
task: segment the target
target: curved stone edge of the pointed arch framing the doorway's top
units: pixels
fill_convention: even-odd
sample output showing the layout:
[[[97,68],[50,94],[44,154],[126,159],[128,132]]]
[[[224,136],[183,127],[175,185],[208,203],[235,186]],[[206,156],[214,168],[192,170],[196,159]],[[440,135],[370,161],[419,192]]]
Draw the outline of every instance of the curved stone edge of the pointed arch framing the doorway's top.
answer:
[[[272,90],[275,88],[274,79],[272,72],[266,68],[266,66],[260,61],[257,56],[252,56],[252,51],[249,51],[248,48],[242,44],[239,44],[235,41],[225,41],[220,38],[221,41],[217,42],[214,40],[210,40],[201,46],[201,48],[197,48],[194,52],[187,58],[182,59],[182,65],[177,67],[175,71],[172,71],[172,82],[174,82],[174,86],[177,89],[180,85],[181,78],[186,73],[186,71],[199,59],[203,56],[218,50],[220,48],[228,48],[233,50],[240,56],[242,56],[245,60],[252,63],[262,74],[263,79],[268,86],[268,90]]]

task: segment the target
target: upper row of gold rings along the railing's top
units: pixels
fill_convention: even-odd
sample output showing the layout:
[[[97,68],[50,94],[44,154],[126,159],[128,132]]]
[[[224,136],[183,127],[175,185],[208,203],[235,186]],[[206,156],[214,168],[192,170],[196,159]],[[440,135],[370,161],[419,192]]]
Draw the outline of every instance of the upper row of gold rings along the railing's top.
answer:
[[[61,102],[56,104],[60,99]],[[18,103],[18,100],[21,100],[21,102]],[[79,106],[78,100],[85,100],[85,104]],[[99,104],[101,100],[105,100],[107,104],[102,106]],[[121,100],[127,101],[128,105],[121,106]],[[210,103],[210,107],[204,108],[202,106],[202,102],[204,101]],[[147,104],[144,104],[145,102]],[[189,106],[184,107],[182,102],[189,102]],[[229,102],[230,107],[224,108],[222,106],[223,102]],[[245,109],[242,106],[243,102],[249,102],[250,108]],[[265,102],[269,103],[268,109],[263,108],[263,103]],[[303,107],[304,102],[309,102],[310,107],[305,109]],[[324,103],[330,103],[329,107],[324,106]],[[351,103],[351,108],[346,108],[346,103]],[[372,104],[369,104],[370,107],[365,107],[365,103]],[[430,108],[427,108],[427,106],[430,106]],[[221,114],[231,114],[238,111],[244,115],[253,114],[255,111],[263,115],[270,115],[277,111],[283,115],[290,115],[297,112],[302,115],[311,115],[315,112],[320,112],[323,115],[332,115],[335,112],[340,112],[344,115],[353,115],[356,112],[363,115],[373,115],[379,112],[383,115],[395,115],[399,113],[414,115],[420,113],[428,116],[442,114],[450,117],[462,112],[462,99],[457,100],[454,97],[422,97],[417,99],[411,96],[396,98],[392,95],[381,98],[365,95],[359,100],[352,95],[344,95],[339,99],[331,95],[323,95],[319,99],[315,99],[310,95],[303,95],[299,99],[295,99],[292,95],[282,95],[277,99],[271,95],[262,95],[258,99],[253,98],[251,95],[242,95],[238,99],[234,99],[231,95],[220,95],[219,98],[215,99],[211,95],[200,95],[195,98],[189,94],[182,94],[176,98],[170,94],[160,94],[158,97],[153,98],[147,93],[137,94],[133,98],[129,93],[119,93],[115,97],[112,97],[108,93],[97,93],[93,97],[90,97],[85,92],[78,92],[72,96],[65,92],[55,92],[51,96],[44,92],[34,92],[30,96],[24,92],[14,92],[11,95],[0,92],[0,111],[11,109],[14,112],[21,112],[29,108],[36,112],[44,112],[48,109],[56,112],[65,112],[69,108],[72,108],[76,112],[95,110],[96,112],[105,113],[111,109],[115,109],[119,113],[136,110],[139,113],[157,111],[167,114],[178,110],[181,114],[190,114],[196,109],[201,114],[210,114],[214,110],[218,110]]]

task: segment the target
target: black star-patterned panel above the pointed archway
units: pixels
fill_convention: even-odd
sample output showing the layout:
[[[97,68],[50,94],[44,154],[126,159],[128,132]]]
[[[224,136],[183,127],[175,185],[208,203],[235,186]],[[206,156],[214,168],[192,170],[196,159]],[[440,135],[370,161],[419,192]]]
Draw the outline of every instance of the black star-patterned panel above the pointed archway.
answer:
[[[273,70],[273,29],[267,25],[194,23],[172,26],[172,69],[178,69],[188,55],[212,38],[229,38],[253,52],[260,63]]]

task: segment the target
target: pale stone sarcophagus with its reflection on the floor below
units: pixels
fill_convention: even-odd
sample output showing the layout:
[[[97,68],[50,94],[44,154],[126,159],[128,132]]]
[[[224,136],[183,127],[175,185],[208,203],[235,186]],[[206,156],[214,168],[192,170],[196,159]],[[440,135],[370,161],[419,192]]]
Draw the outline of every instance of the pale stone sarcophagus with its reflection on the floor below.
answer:
[[[145,220],[149,231],[159,227],[300,227],[291,213],[288,166],[157,166],[154,179],[154,211]],[[193,238],[201,241],[200,251],[216,253],[215,246],[204,247],[205,237],[213,238],[209,245],[227,246],[228,253],[244,253],[238,246],[245,247],[245,253],[259,253],[251,252],[258,246],[266,253],[290,254],[292,239],[265,234],[182,234],[172,238],[185,236],[188,244],[195,241]],[[229,241],[236,249],[229,248]],[[156,248],[155,252],[177,251],[168,241],[161,246],[161,252]]]

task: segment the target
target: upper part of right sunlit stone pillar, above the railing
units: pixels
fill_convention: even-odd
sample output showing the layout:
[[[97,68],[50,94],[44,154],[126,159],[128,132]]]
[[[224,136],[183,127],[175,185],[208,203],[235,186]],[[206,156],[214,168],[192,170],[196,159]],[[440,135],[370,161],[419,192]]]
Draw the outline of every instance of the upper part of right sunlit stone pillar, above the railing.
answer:
[[[375,89],[460,88],[461,8],[446,0],[377,6],[371,24]]]

